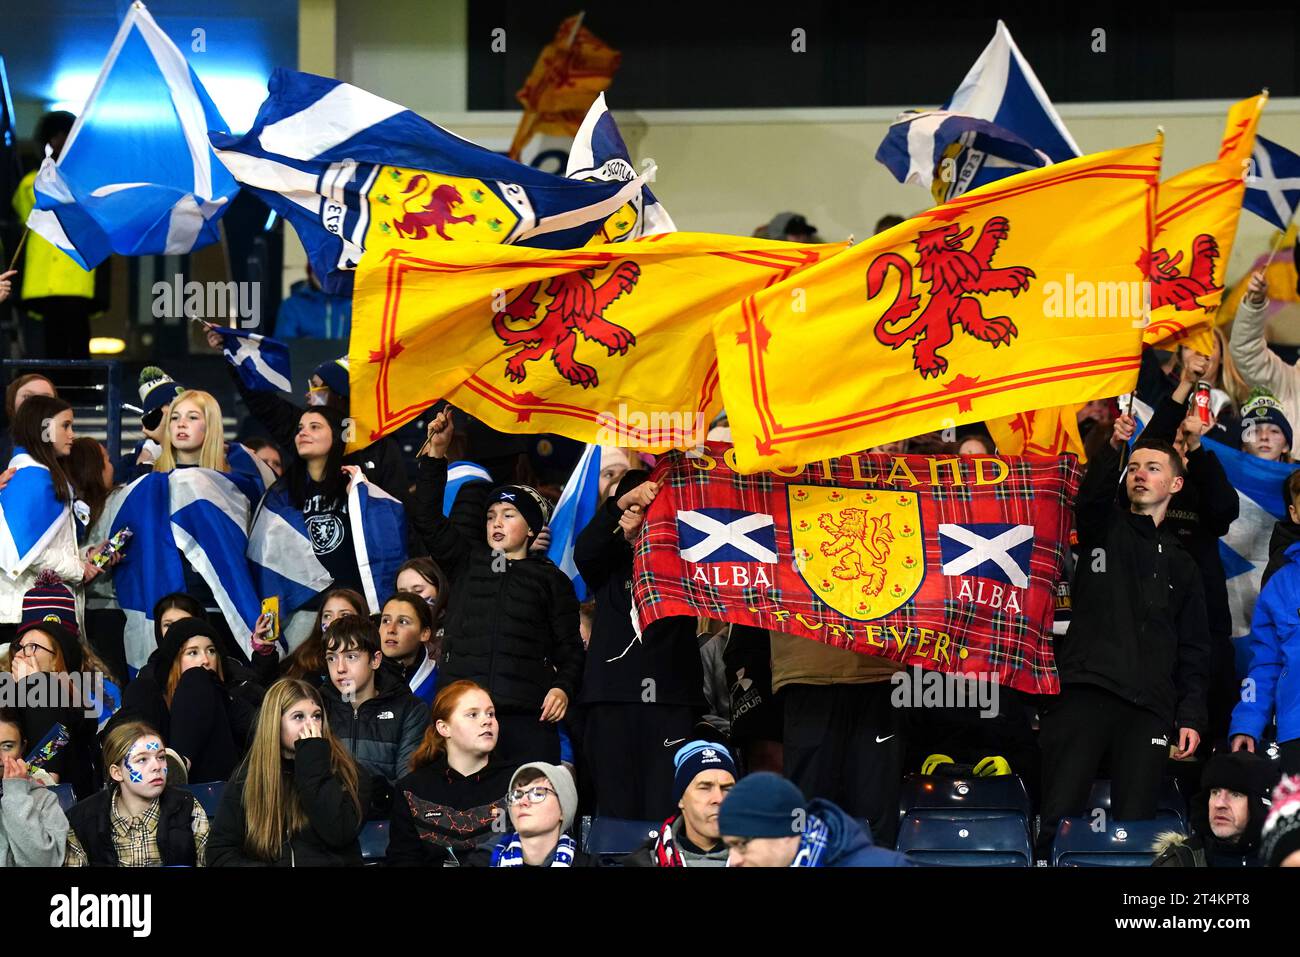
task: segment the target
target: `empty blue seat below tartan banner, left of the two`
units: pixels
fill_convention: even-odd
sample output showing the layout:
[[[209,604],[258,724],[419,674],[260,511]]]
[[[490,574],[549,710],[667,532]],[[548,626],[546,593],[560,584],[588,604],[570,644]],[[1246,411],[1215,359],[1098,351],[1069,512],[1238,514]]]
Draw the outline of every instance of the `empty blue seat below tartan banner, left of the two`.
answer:
[[[966,820],[909,814],[898,828],[898,850],[913,863],[949,867],[1030,867],[1034,846],[1019,811]]]

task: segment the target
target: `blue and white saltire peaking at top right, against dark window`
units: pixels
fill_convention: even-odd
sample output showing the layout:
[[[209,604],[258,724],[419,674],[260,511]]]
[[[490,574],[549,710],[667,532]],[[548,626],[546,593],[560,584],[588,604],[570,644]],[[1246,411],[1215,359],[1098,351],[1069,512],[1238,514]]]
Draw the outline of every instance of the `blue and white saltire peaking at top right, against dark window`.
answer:
[[[993,39],[942,109],[997,124],[1041,150],[1052,163],[1082,156],[1079,144],[1002,21],[997,21]]]

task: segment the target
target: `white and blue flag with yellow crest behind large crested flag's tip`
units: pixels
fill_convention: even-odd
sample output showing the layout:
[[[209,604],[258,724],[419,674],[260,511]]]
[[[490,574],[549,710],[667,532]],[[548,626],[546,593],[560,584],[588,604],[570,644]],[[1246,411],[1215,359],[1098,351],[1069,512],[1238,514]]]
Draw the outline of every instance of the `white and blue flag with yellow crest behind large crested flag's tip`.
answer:
[[[637,177],[623,134],[619,133],[610,108],[604,105],[604,94],[595,98],[595,103],[592,104],[592,109],[573,137],[564,176],[584,182],[630,182]],[[655,233],[675,231],[677,226],[673,225],[668,211],[646,186],[640,195],[633,196],[604,221],[589,244],[618,243]]]

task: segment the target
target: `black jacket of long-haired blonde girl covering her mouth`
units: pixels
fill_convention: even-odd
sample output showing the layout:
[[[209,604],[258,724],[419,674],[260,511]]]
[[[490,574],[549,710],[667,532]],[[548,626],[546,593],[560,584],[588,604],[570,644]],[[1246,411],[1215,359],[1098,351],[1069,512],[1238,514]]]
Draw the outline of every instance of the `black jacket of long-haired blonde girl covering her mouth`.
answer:
[[[347,796],[342,783],[329,770],[329,742],[308,737],[298,742],[294,759],[281,762],[285,785],[298,792],[307,811],[307,827],[281,844],[274,863],[250,857],[244,850],[248,819],[244,815],[243,787],[247,765],[242,766],[221,794],[217,819],[208,836],[209,867],[341,867],[360,866],[364,813]],[[370,800],[369,776],[359,780],[361,809]]]

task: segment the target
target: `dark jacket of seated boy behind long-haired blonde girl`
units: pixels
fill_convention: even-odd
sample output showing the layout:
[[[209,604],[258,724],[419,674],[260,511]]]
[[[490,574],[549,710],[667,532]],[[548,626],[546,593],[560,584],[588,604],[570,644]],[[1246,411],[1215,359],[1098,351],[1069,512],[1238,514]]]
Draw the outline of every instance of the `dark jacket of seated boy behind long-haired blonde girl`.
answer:
[[[374,697],[358,709],[343,701],[330,681],[321,685],[321,697],[325,698],[325,713],[334,736],[364,771],[380,778],[373,781],[374,785],[391,785],[406,774],[411,755],[424,739],[424,729],[429,727],[429,706],[412,694],[390,668],[374,672]]]

